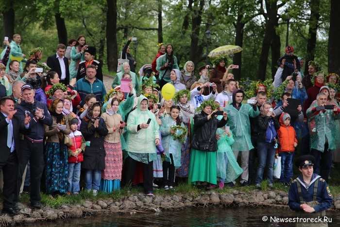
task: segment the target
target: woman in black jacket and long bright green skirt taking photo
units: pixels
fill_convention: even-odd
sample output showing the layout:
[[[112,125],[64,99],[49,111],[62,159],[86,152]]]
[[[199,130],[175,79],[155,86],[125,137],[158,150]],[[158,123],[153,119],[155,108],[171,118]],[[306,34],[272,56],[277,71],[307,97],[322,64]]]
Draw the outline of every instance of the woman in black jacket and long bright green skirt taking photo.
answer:
[[[191,155],[189,167],[189,182],[195,184],[198,189],[206,187],[207,183],[217,184],[216,151],[217,151],[217,128],[227,123],[227,112],[223,112],[223,118],[216,118],[219,106],[214,101],[204,101],[197,108],[194,117],[195,135],[191,142]],[[204,163],[204,164],[203,164]]]

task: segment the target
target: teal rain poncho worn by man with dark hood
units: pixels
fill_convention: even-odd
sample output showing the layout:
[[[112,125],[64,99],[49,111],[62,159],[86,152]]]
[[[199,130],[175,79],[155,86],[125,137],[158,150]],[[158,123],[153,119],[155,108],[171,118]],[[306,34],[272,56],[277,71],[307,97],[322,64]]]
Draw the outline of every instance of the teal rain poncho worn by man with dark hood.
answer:
[[[233,151],[250,151],[253,149],[253,144],[250,139],[250,121],[249,118],[257,117],[260,112],[256,111],[252,105],[242,104],[237,110],[233,105],[227,105],[223,109],[228,112],[227,125],[230,126],[230,131],[234,136]]]

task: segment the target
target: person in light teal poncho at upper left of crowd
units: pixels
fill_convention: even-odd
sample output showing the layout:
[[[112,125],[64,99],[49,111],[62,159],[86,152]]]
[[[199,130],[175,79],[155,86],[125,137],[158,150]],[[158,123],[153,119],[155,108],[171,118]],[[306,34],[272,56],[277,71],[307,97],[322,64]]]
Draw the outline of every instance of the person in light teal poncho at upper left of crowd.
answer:
[[[21,42],[21,36],[19,34],[13,35],[13,40],[11,42],[11,52],[10,52],[9,59],[6,65],[6,73],[9,70],[9,63],[11,63],[12,60],[19,61],[20,63],[19,72],[22,73],[22,62],[25,63],[27,59],[26,59],[26,55],[23,54],[21,51],[21,47],[19,45],[20,42]],[[6,50],[7,50],[7,47],[1,52],[1,56],[0,56],[1,59],[5,55]]]

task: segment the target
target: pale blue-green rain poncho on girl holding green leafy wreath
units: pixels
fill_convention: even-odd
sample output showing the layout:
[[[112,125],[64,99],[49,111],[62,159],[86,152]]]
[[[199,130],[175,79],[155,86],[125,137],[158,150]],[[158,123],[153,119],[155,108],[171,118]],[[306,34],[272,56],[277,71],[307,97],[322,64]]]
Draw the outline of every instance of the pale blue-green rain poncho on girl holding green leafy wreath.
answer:
[[[173,158],[173,164],[175,169],[178,169],[181,166],[181,149],[182,149],[182,142],[179,140],[173,140],[173,137],[170,134],[170,127],[174,125],[175,122],[171,117],[165,117],[162,119],[162,124],[160,127],[161,134],[162,134],[162,146],[165,151],[165,155],[168,157],[165,161],[169,161],[170,159],[170,149]],[[184,123],[181,123],[182,127],[185,127]],[[187,135],[185,136],[184,140],[187,140]]]

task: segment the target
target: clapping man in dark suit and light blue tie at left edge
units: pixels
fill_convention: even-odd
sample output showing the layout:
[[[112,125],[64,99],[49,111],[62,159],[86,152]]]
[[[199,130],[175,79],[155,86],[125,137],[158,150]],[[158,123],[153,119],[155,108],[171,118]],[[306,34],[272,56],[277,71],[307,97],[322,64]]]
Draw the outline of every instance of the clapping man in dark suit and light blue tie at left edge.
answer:
[[[20,151],[19,133],[28,135],[31,133],[31,117],[25,115],[21,122],[14,110],[14,100],[11,97],[3,97],[0,100],[0,171],[3,172],[3,209],[2,213],[16,215],[17,206],[13,203],[17,187],[17,172],[19,160],[17,151]]]

